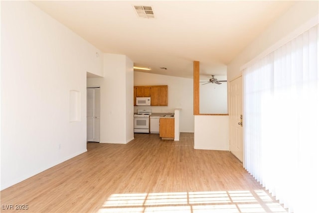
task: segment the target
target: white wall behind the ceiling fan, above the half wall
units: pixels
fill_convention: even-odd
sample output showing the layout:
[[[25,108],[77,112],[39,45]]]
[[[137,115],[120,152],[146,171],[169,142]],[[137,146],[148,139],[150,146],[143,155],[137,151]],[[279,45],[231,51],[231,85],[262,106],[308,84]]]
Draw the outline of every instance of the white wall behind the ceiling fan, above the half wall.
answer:
[[[227,76],[215,76],[218,80],[227,80]],[[207,81],[200,80],[200,81]],[[221,84],[199,84],[199,113],[227,114],[227,82]]]

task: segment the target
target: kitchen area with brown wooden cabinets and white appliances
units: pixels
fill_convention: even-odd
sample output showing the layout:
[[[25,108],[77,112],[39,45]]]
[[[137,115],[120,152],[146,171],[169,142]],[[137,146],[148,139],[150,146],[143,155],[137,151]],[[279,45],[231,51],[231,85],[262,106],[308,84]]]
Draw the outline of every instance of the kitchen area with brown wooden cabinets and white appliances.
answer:
[[[162,140],[179,141],[179,112],[158,112],[167,106],[167,85],[134,86],[134,133],[159,134]]]

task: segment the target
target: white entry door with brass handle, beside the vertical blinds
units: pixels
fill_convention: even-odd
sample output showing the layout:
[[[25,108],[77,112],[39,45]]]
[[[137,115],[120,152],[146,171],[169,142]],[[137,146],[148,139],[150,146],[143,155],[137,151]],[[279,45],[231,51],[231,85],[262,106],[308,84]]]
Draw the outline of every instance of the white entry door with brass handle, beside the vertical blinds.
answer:
[[[243,162],[243,127],[241,116],[243,115],[243,82],[242,76],[229,84],[229,131],[230,152]]]

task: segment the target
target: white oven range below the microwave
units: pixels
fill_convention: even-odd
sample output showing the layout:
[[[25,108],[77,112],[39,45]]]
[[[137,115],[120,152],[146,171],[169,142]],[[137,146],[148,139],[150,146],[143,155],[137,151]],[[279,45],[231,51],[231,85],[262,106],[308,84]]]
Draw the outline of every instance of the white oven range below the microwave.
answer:
[[[134,132],[135,133],[150,133],[150,115],[152,109],[138,109],[137,114],[134,114]]]

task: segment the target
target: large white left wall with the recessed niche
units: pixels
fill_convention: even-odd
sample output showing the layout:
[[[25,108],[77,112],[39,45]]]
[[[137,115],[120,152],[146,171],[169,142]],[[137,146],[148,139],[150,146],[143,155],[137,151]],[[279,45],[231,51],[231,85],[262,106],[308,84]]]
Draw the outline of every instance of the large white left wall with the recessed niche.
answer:
[[[1,1],[1,190],[86,151],[96,52],[32,3]],[[78,122],[69,121],[70,90],[80,92]]]

